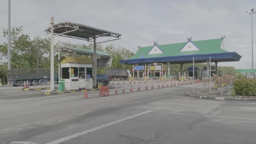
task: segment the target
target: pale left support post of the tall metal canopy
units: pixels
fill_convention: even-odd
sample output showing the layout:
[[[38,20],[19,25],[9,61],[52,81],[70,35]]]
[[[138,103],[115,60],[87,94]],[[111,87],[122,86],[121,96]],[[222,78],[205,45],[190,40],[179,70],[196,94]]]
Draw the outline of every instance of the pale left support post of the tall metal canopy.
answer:
[[[51,57],[51,85],[50,88],[54,89],[54,18],[51,17],[51,50],[50,50],[50,57]]]

